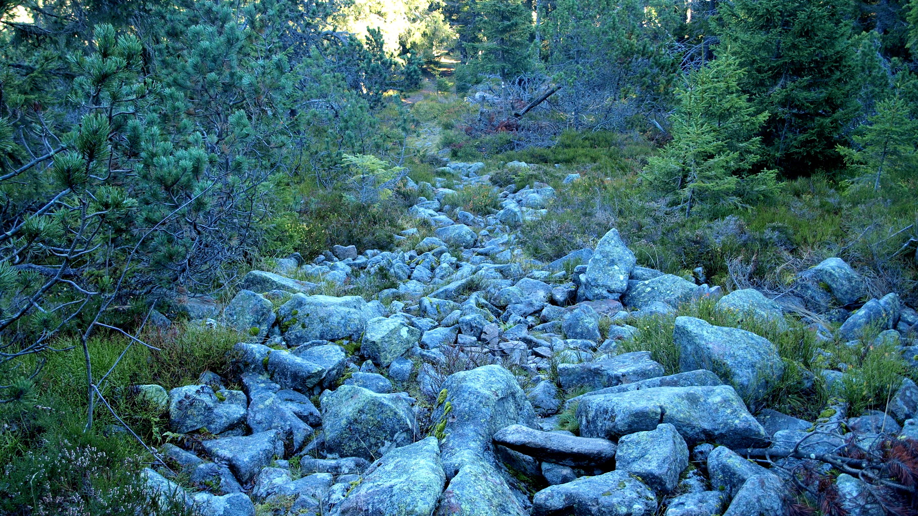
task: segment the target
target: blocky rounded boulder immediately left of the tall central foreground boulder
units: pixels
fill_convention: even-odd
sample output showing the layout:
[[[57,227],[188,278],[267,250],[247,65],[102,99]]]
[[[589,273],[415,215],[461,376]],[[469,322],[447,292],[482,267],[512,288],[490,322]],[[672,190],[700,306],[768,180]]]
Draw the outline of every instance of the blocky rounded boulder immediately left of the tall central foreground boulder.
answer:
[[[331,454],[372,460],[414,442],[416,420],[403,396],[341,386],[323,392],[320,402],[322,432]]]

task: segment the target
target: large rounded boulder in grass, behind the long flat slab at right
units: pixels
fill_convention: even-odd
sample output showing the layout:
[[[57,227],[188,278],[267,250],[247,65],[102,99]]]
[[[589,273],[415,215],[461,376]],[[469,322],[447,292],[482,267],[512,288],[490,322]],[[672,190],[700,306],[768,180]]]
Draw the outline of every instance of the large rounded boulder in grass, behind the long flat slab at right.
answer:
[[[742,398],[760,399],[784,374],[778,348],[765,337],[677,317],[673,342],[683,371],[709,369],[732,383]]]

